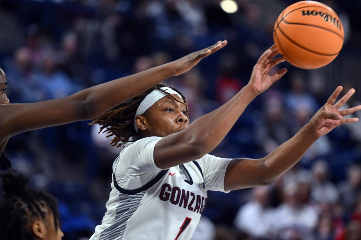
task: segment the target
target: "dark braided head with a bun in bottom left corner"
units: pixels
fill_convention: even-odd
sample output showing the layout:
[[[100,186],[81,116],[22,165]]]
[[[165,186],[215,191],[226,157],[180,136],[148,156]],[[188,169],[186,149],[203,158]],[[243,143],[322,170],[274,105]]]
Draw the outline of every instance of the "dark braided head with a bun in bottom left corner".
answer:
[[[0,174],[4,195],[0,201],[0,239],[60,240],[59,212],[54,198],[26,186],[25,176]]]

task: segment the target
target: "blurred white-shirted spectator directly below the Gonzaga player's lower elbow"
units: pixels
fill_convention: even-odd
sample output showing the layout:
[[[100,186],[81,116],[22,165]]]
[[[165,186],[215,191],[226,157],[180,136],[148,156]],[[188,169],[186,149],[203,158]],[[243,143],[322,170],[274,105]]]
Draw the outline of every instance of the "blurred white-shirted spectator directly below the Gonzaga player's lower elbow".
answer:
[[[257,239],[269,239],[273,229],[273,209],[268,207],[269,187],[252,189],[252,199],[236,215],[234,225]]]

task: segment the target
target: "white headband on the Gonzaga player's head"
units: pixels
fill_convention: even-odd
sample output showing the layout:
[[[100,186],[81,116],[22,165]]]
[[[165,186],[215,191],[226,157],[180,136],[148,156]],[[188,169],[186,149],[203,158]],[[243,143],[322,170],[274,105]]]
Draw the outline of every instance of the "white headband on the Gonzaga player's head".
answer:
[[[164,90],[165,92],[168,92],[169,94],[177,94],[179,96],[179,98],[183,99],[182,96],[178,92],[174,91],[170,87],[161,87],[160,89]],[[145,113],[145,111],[147,111],[148,108],[150,108],[153,104],[156,103],[156,101],[163,98],[164,96],[168,96],[168,94],[166,94],[158,89],[153,90],[140,103],[138,109],[135,112],[135,117],[143,115],[143,113]],[[135,118],[134,118],[134,128],[135,128],[135,131],[138,132],[138,127],[135,124]]]

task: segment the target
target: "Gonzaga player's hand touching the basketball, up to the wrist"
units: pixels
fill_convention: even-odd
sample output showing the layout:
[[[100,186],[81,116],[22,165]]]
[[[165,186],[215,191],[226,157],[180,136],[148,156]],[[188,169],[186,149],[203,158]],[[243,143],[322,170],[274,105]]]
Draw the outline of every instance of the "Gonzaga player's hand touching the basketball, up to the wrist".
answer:
[[[262,54],[256,65],[253,67],[248,86],[251,87],[256,96],[267,90],[275,81],[279,80],[287,72],[287,69],[283,68],[273,74],[273,76],[269,75],[271,68],[286,61],[286,58],[283,56],[273,59],[277,54],[278,50],[276,46],[271,46]]]

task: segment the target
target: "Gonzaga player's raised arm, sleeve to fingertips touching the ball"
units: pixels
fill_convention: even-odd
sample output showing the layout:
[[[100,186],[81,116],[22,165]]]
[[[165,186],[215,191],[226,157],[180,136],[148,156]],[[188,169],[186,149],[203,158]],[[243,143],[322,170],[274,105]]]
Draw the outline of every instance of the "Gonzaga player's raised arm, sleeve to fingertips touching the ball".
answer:
[[[198,159],[216,148],[247,105],[287,72],[281,69],[273,76],[269,75],[271,68],[285,60],[283,57],[272,60],[277,54],[275,46],[265,51],[253,68],[248,84],[227,103],[198,118],[181,132],[157,142],[154,150],[156,166],[163,169],[177,166]]]

